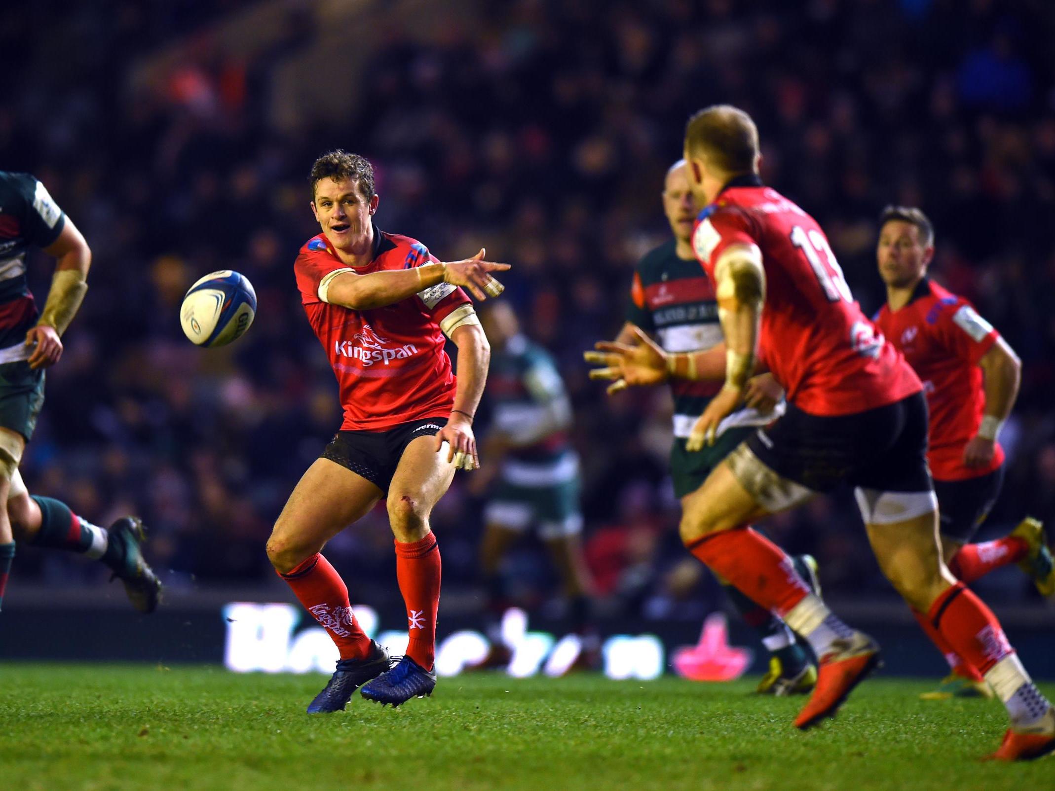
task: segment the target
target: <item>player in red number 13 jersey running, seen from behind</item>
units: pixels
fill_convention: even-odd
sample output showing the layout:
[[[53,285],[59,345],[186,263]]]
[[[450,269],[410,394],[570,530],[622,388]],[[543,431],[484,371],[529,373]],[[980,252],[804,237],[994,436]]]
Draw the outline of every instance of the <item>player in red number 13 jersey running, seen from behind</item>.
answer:
[[[634,346],[599,344],[606,367],[592,374],[628,385],[724,378],[689,449],[714,443],[721,422],[744,400],[760,350],[787,392],[785,416],[733,450],[689,497],[682,538],[820,658],[817,687],[795,726],[833,716],[878,665],[880,649],[831,613],[790,559],[749,525],[845,482],[855,487],[883,573],[1004,703],[1010,728],[991,757],[1051,752],[1055,710],[996,616],[942,562],[919,378],[853,302],[817,221],[763,185],[750,116],[730,105],[698,112],[686,129],[685,158],[706,207],[693,250],[715,284],[724,354],[667,354],[638,333]]]

